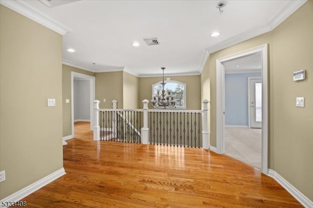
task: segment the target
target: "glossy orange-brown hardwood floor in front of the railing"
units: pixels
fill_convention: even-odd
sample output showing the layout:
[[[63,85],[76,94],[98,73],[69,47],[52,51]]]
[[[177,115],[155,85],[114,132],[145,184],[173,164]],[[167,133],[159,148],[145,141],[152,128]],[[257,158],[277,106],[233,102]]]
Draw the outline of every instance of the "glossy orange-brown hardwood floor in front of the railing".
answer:
[[[27,207],[302,207],[272,178],[228,156],[90,135],[67,140],[67,174],[22,199]]]

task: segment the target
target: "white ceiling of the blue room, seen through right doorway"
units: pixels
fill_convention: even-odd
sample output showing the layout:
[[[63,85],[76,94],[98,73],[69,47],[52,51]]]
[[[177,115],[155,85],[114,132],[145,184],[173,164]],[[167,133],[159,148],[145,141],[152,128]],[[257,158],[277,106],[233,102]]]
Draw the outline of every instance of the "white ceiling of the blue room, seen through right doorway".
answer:
[[[261,72],[261,53],[231,60],[229,62],[224,62],[223,65],[226,74]]]

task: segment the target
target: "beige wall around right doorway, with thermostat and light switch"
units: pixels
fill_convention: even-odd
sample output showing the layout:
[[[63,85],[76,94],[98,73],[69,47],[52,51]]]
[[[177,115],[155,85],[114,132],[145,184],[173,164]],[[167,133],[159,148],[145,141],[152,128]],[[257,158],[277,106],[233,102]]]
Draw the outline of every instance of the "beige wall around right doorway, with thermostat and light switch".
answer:
[[[268,43],[269,168],[313,200],[313,0],[273,31],[210,54],[201,74],[202,99],[211,101],[210,141],[216,146],[216,59]],[[306,69],[307,79],[292,81]],[[305,107],[295,98],[305,97]]]

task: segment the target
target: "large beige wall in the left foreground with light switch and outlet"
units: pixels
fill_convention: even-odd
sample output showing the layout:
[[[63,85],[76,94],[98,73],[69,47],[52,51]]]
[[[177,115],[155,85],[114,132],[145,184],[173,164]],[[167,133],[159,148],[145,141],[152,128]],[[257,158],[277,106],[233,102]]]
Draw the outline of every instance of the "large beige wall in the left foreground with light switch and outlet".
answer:
[[[62,36],[0,5],[0,45],[3,199],[63,167]]]

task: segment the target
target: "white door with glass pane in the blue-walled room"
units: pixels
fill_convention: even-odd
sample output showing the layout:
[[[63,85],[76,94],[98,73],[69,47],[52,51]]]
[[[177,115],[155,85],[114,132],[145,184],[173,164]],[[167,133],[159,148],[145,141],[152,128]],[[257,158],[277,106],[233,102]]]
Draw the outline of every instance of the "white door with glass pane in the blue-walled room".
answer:
[[[262,128],[262,80],[248,78],[249,83],[249,126]]]

